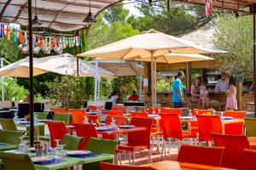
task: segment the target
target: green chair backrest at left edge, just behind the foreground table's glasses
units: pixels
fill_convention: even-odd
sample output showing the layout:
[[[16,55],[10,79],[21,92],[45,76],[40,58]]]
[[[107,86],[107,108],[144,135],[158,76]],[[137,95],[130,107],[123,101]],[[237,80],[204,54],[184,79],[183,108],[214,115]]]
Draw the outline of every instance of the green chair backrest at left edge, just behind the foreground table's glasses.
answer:
[[[7,144],[20,144],[20,137],[23,131],[0,130],[0,142]]]

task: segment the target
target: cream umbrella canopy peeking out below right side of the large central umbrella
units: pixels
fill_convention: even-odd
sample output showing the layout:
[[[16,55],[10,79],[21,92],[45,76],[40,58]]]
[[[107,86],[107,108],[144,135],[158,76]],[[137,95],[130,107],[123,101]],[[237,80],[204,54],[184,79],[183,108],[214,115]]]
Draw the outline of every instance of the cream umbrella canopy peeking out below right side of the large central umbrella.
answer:
[[[212,58],[201,54],[165,54],[160,57],[155,57],[156,62],[160,63],[183,63],[190,61],[210,60]],[[136,59],[141,61],[151,61],[151,58]]]

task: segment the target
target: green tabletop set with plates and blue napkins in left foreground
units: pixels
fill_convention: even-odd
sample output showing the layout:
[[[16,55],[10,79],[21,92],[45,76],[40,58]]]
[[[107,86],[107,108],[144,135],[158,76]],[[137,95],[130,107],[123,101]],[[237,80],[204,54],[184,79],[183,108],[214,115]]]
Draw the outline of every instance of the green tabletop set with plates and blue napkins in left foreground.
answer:
[[[8,150],[7,152],[20,153],[19,150]],[[49,156],[54,156],[54,154],[55,154],[54,152],[49,152]],[[28,153],[28,156],[32,157],[32,156],[36,156],[36,154]],[[101,154],[98,156],[90,156],[90,157],[84,157],[84,158],[66,156],[65,161],[61,161],[60,163],[53,163],[49,165],[34,165],[34,166],[38,170],[56,170],[64,167],[73,167],[79,164],[86,164],[86,163],[97,162],[97,161],[106,161],[110,159],[113,159],[113,155]]]

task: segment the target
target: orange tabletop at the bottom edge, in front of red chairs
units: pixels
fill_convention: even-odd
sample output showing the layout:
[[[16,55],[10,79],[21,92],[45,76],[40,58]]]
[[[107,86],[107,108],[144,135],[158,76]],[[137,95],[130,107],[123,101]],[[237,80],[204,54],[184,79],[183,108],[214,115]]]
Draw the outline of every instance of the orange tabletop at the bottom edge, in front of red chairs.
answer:
[[[148,163],[141,167],[154,167],[158,170],[232,170],[226,167],[213,167],[207,165],[200,165],[195,163],[179,162],[179,161],[158,161],[155,163]],[[234,169],[233,169],[234,170]]]

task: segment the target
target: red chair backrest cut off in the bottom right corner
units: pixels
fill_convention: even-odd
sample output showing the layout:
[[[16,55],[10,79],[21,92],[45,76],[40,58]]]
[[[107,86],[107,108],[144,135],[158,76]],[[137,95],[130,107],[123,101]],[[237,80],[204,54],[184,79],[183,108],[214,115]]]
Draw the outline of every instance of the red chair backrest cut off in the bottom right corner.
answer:
[[[240,170],[253,170],[256,169],[256,150],[243,150],[240,160]]]

